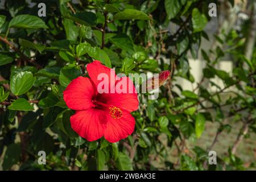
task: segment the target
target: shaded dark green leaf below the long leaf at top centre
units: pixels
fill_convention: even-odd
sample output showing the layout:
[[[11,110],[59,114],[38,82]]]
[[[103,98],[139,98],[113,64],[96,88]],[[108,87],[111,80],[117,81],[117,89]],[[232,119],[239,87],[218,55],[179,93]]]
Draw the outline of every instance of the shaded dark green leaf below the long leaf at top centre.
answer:
[[[125,34],[115,35],[113,38],[110,39],[110,42],[112,42],[118,48],[124,49],[131,53],[134,52],[133,42],[131,42],[129,36]]]

